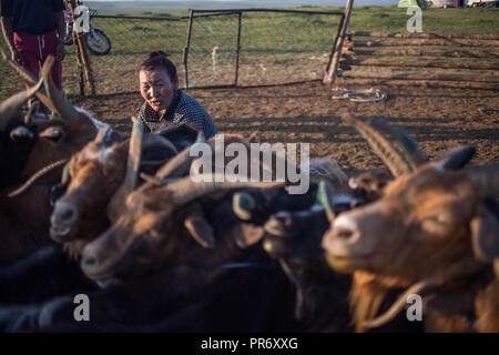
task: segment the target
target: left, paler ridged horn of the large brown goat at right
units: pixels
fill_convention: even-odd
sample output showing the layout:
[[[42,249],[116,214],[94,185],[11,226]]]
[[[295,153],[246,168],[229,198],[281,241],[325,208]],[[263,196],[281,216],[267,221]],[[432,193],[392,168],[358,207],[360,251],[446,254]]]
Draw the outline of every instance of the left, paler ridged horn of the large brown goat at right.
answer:
[[[381,159],[395,178],[410,173],[410,166],[400,153],[379,132],[349,113],[343,114],[342,119],[364,136],[373,152]]]

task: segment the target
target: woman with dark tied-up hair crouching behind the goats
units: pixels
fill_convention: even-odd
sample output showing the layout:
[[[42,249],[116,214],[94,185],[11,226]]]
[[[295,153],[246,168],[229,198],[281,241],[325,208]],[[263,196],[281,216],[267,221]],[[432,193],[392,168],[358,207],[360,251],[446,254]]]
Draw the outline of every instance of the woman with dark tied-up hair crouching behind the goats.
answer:
[[[196,99],[179,89],[176,68],[167,55],[151,52],[139,71],[140,90],[145,102],[138,119],[146,132],[160,132],[172,124],[190,123],[206,139],[215,135],[212,118]]]

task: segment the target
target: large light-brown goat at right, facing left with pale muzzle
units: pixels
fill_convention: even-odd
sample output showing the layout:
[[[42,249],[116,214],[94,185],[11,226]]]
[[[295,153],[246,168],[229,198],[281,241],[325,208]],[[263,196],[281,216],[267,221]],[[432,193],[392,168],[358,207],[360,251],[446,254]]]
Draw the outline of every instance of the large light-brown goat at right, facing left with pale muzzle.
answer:
[[[498,243],[497,216],[483,201],[498,194],[499,165],[449,170],[450,162],[461,165],[462,153],[468,154],[454,152],[396,179],[379,201],[340,214],[325,234],[330,265],[354,273],[357,331],[389,320],[408,293],[421,294],[429,332],[498,329],[497,280],[491,263],[479,261],[471,245]],[[388,291],[407,287],[398,308],[373,321]]]

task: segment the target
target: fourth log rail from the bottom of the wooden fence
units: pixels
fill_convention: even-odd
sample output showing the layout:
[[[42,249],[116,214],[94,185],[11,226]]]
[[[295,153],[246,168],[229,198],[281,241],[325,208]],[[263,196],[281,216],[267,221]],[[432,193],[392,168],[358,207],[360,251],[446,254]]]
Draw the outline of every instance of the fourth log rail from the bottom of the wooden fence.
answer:
[[[345,48],[344,48],[345,50]],[[344,51],[345,52],[345,51]],[[499,59],[499,52],[490,51],[462,51],[439,49],[380,49],[355,50],[356,55],[391,55],[391,57],[446,57],[446,58],[491,58]]]

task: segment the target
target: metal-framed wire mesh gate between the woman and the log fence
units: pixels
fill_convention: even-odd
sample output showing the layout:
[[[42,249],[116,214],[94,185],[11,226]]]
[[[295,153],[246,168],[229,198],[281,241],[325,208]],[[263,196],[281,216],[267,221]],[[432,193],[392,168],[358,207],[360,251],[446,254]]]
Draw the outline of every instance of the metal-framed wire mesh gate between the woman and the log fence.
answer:
[[[258,87],[319,80],[343,12],[191,10],[185,88]]]

